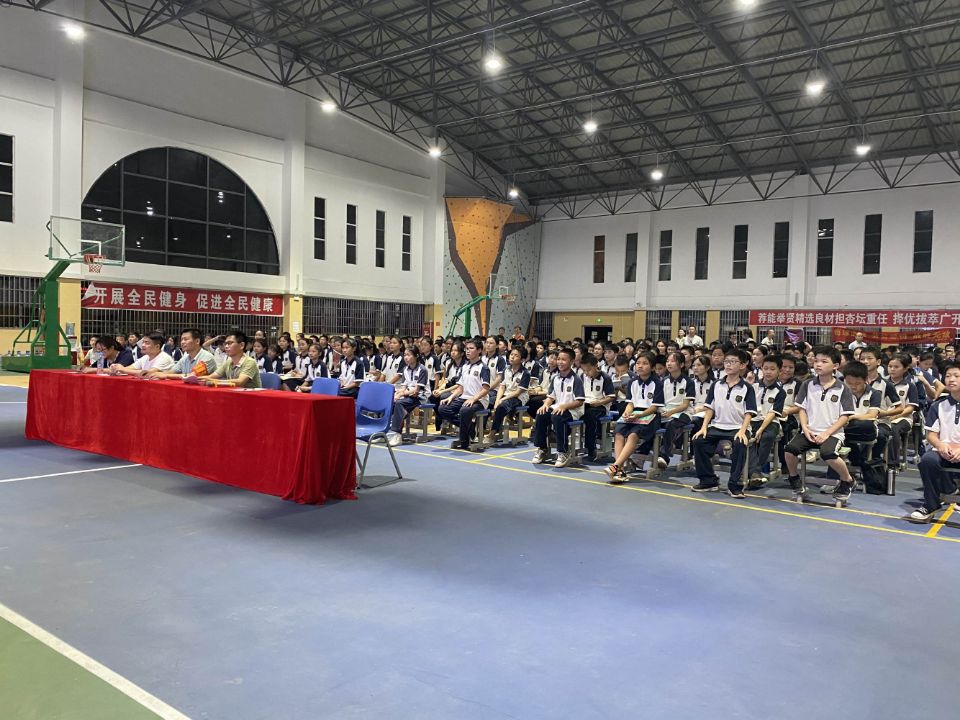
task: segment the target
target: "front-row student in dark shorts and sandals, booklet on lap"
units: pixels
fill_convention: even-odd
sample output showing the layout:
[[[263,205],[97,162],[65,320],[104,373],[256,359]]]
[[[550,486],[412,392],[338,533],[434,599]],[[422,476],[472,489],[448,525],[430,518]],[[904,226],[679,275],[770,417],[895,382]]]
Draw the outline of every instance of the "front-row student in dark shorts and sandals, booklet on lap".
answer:
[[[653,374],[656,356],[650,352],[637,355],[635,374],[627,391],[627,406],[617,421],[614,436],[614,460],[607,467],[607,475],[614,484],[627,481],[627,460],[634,453],[647,455],[660,429],[659,410],[663,407],[663,385]]]

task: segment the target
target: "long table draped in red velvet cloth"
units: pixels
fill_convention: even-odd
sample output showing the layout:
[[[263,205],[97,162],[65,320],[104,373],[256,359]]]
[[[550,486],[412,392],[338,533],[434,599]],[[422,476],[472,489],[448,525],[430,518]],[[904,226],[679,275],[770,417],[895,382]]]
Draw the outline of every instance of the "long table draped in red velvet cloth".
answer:
[[[354,401],[34,370],[26,436],[320,504],[355,499]]]

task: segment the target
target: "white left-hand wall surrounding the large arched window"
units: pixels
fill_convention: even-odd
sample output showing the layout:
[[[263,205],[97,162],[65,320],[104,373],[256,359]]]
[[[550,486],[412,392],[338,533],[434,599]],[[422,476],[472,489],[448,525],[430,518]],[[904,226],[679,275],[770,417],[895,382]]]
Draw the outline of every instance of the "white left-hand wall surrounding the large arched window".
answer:
[[[215,158],[256,193],[277,236],[280,276],[130,263],[105,267],[105,279],[438,301],[444,173],[426,153],[345,114],[325,115],[293,91],[90,27],[75,45],[60,25],[44,13],[0,10],[0,132],[16,146],[15,220],[0,223],[0,274],[46,273],[54,206],[76,215],[111,164],[174,146]],[[80,147],[55,153],[55,140],[71,133]],[[313,258],[315,196],[327,200],[326,261]],[[347,203],[360,214],[355,266],[344,261]],[[387,213],[385,269],[375,267],[376,210]],[[413,225],[409,272],[400,270],[403,215]]]

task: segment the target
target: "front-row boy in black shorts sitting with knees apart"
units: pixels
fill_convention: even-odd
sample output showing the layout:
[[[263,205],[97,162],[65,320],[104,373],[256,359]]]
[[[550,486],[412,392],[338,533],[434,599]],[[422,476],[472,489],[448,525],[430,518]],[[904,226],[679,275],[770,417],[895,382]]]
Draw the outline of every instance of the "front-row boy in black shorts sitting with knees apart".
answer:
[[[798,472],[798,456],[808,450],[819,449],[820,457],[840,478],[833,493],[834,499],[846,502],[853,491],[853,478],[846,463],[840,459],[838,450],[843,444],[844,426],[854,413],[853,394],[837,380],[835,374],[840,364],[840,351],[820,345],[814,348],[813,354],[815,376],[797,391],[800,432],[786,447],[790,487],[796,499],[806,496],[807,488]]]

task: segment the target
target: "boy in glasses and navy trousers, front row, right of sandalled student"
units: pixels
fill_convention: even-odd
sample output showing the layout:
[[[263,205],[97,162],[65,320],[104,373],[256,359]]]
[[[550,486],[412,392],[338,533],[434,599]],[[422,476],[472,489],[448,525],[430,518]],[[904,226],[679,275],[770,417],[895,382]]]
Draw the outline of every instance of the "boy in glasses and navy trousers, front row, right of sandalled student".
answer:
[[[737,348],[724,354],[723,367],[726,375],[707,392],[704,403],[706,411],[703,424],[693,436],[693,456],[697,478],[693,492],[717,492],[720,478],[713,468],[713,456],[721,440],[732,441],[730,455],[730,478],[727,492],[731,497],[742,498],[743,466],[747,459],[747,428],[757,414],[757,396],[753,386],[742,374],[750,363],[750,355]]]

